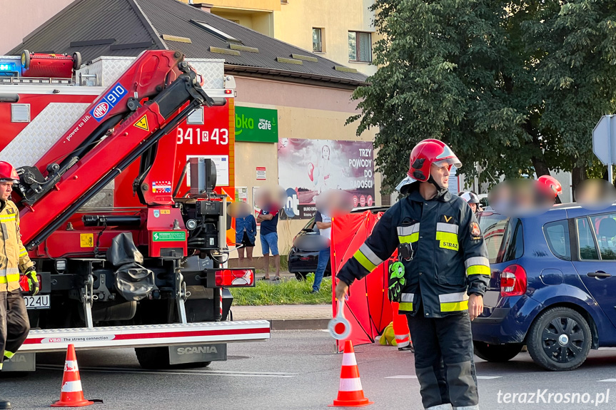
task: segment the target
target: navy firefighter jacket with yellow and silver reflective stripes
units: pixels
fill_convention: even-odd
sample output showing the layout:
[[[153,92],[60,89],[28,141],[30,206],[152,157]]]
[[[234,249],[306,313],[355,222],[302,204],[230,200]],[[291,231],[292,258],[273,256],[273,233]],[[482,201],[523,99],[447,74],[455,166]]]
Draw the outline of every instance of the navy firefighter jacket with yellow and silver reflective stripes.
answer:
[[[485,293],[490,262],[475,214],[465,200],[441,190],[424,200],[419,183],[390,207],[337,277],[348,284],[361,279],[409,243],[413,259],[403,260],[405,285],[400,312],[444,317],[468,309],[470,294]]]

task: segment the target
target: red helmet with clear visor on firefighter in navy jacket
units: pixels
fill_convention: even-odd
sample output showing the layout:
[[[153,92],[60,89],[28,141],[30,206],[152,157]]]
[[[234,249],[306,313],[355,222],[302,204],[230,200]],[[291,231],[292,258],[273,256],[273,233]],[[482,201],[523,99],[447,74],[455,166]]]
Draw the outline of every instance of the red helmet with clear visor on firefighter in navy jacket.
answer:
[[[410,153],[410,167],[407,175],[415,180],[425,182],[430,178],[432,164],[462,167],[462,163],[455,156],[451,148],[440,140],[423,140]]]

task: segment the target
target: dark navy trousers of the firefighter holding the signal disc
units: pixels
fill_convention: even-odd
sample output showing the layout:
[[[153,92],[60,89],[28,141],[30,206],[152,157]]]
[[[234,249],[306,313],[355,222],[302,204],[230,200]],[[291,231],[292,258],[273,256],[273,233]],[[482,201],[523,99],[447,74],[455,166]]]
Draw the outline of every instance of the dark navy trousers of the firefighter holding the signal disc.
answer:
[[[424,408],[478,410],[468,312],[430,319],[420,306],[416,316],[408,316],[408,327]]]

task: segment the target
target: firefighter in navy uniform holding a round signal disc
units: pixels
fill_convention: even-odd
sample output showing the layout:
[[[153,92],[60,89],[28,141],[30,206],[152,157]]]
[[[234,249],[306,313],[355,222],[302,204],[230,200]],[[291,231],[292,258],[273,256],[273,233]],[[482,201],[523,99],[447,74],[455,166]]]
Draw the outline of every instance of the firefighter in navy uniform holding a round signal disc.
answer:
[[[490,264],[475,214],[447,190],[452,165],[462,164],[439,140],[413,148],[408,196],[385,212],[342,267],[335,294],[343,297],[398,247],[404,272],[390,294],[408,315],[423,406],[478,410],[470,321],[483,311]]]

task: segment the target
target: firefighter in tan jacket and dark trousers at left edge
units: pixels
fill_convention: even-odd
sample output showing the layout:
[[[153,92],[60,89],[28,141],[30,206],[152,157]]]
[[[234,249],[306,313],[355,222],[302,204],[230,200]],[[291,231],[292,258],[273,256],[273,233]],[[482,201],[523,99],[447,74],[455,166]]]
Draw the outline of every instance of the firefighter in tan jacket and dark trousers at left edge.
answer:
[[[24,273],[29,294],[39,293],[34,263],[21,243],[19,210],[9,199],[19,175],[13,165],[0,161],[0,369],[24,343],[30,323],[24,298],[21,297],[19,272]],[[9,401],[0,399],[0,409],[11,409]]]

